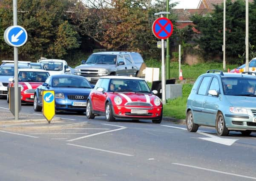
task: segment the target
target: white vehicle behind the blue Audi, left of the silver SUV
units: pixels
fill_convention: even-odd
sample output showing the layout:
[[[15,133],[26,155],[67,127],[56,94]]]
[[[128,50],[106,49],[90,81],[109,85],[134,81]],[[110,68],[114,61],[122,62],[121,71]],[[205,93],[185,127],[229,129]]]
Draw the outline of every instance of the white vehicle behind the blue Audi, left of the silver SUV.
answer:
[[[44,65],[45,70],[50,75],[71,74],[70,68],[65,60],[43,59],[39,63]]]

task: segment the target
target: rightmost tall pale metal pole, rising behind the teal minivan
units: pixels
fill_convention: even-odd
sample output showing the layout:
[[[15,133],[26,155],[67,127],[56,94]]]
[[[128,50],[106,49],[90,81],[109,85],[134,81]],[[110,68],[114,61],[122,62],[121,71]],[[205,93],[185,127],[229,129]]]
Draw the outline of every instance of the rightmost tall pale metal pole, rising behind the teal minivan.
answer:
[[[245,72],[249,72],[249,14],[248,14],[248,0],[245,1]]]

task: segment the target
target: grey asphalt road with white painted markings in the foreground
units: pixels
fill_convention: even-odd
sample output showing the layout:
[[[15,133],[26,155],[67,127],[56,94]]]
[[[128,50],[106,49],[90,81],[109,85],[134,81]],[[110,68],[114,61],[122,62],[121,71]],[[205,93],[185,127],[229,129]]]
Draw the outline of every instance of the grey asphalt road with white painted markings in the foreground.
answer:
[[[7,108],[0,100],[0,113]],[[27,105],[20,114],[42,117]],[[0,128],[1,181],[256,180],[256,133],[219,137],[213,128],[189,133],[184,125],[166,121],[55,116],[76,126]]]

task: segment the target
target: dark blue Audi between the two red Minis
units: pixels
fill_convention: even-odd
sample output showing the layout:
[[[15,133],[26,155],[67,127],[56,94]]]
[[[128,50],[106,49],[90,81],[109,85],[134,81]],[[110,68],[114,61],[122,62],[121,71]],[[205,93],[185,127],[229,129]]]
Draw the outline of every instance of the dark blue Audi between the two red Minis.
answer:
[[[42,110],[43,90],[55,91],[56,111],[86,111],[86,100],[94,86],[79,75],[52,75],[38,86],[34,95],[34,110]]]

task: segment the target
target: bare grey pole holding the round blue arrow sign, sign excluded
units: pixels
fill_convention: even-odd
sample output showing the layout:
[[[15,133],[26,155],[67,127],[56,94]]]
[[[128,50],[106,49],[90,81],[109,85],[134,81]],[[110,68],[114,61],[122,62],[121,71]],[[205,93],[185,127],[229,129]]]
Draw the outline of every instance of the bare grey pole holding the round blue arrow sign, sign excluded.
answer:
[[[17,0],[13,0],[13,25],[17,25]],[[14,119],[19,119],[18,48],[14,47]]]

